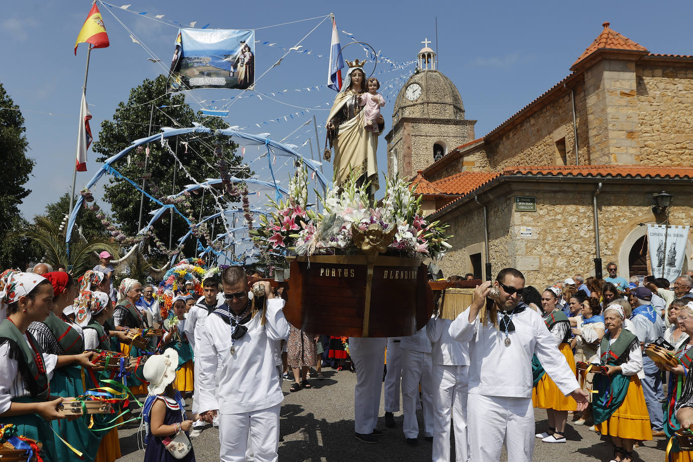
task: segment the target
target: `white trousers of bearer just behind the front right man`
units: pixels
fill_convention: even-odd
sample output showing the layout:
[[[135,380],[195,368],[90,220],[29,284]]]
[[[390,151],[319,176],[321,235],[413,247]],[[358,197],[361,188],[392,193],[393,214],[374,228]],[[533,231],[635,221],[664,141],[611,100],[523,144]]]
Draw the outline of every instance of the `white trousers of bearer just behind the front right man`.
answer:
[[[455,424],[455,461],[469,460],[467,387],[469,366],[433,364],[433,462],[450,461],[450,415]]]

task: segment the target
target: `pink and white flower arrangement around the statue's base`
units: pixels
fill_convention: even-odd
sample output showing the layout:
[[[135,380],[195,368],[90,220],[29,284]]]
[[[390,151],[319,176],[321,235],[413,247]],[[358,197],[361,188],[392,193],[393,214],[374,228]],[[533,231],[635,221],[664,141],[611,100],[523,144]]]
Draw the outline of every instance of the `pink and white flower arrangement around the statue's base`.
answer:
[[[308,173],[301,166],[290,180],[289,198],[270,199],[271,217],[260,217],[251,231],[256,246],[275,256],[356,255],[440,258],[450,245],[447,224],[421,215],[415,187],[394,177],[386,179],[385,197],[371,205],[368,184],[358,185],[352,173],[339,190],[328,190],[322,213],[306,208]]]

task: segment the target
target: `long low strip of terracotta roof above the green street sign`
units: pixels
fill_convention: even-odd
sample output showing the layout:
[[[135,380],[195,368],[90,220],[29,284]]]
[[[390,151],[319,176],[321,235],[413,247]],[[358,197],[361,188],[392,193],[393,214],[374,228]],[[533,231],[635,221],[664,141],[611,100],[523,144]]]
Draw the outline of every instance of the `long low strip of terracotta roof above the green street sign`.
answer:
[[[563,177],[691,178],[693,167],[660,166],[529,166],[509,167],[503,175],[548,175]]]

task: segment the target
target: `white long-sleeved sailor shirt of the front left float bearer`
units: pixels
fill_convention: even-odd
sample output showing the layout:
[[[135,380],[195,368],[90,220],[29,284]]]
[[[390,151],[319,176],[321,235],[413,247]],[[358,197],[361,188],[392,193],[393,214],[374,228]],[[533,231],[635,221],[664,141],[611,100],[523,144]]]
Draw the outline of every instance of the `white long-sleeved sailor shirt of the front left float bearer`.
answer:
[[[267,322],[260,325],[258,312],[245,323],[248,330],[234,341],[233,355],[231,326],[216,314],[207,317],[196,357],[200,362],[200,413],[218,409],[221,414],[242,414],[283,401],[274,358],[276,342],[289,337],[283,306],[283,299],[267,300]]]

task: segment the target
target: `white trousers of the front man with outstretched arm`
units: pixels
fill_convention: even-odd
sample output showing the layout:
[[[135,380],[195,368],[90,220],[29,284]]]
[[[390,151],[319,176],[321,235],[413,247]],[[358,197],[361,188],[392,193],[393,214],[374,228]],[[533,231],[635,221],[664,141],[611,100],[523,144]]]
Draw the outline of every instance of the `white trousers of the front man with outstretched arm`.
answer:
[[[467,396],[467,429],[472,462],[500,460],[505,444],[508,462],[530,462],[534,451],[532,398]]]

